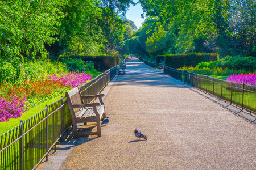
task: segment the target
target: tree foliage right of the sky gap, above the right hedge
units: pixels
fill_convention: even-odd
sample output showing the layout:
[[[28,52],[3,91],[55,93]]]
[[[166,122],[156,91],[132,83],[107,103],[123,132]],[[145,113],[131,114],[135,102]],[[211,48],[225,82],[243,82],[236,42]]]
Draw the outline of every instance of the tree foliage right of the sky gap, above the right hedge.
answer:
[[[139,0],[139,3],[146,21],[154,21],[147,23],[154,35],[144,40],[153,56],[196,52],[256,57],[254,0]]]

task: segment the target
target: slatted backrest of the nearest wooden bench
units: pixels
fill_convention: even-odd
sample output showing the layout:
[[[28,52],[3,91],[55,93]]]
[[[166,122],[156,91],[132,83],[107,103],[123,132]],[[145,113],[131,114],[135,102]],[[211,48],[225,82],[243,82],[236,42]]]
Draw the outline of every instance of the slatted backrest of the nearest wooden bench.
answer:
[[[65,92],[67,97],[68,106],[71,108],[72,117],[76,118],[76,113],[80,112],[80,108],[73,108],[72,104],[82,104],[81,93],[78,87],[69,92]]]

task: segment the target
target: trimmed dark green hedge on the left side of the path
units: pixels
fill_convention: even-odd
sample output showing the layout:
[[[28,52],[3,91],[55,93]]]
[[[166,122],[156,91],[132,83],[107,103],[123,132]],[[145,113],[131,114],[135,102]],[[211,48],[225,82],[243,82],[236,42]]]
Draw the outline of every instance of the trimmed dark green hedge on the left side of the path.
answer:
[[[70,56],[72,59],[92,61],[97,71],[106,71],[119,64],[119,56]]]

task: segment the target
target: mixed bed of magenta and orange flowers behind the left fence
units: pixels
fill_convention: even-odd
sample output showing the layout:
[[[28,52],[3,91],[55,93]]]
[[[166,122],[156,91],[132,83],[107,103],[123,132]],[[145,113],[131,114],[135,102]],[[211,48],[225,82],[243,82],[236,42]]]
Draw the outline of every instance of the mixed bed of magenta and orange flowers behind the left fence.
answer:
[[[91,75],[72,71],[33,82],[24,80],[19,85],[2,83],[0,86],[0,122],[20,117],[30,107],[44,100],[53,99],[63,91],[67,91],[67,88],[81,86],[90,79],[92,79]]]

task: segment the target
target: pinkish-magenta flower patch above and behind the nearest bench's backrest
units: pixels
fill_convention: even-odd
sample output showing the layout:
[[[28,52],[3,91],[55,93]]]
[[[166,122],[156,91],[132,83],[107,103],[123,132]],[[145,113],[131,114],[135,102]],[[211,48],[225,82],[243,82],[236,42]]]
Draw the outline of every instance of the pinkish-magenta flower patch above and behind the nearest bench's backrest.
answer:
[[[78,73],[78,72],[69,72],[68,74],[62,73],[60,76],[52,75],[49,76],[48,79],[52,81],[60,81],[61,83],[64,83],[65,86],[81,86],[81,84],[84,84],[86,81],[91,80],[92,76],[88,75],[84,72]]]

